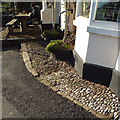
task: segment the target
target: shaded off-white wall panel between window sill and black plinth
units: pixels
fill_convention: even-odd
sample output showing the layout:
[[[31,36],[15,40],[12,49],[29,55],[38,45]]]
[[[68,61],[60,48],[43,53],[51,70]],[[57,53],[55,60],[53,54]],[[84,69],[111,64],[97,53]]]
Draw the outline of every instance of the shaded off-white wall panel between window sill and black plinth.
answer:
[[[118,56],[118,38],[90,34],[86,62],[115,68]]]

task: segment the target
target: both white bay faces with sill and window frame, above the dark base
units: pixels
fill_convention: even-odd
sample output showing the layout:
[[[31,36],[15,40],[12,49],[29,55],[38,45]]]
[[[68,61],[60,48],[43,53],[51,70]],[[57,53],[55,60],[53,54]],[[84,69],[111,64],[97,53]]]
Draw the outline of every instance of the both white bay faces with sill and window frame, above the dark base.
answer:
[[[115,66],[118,65],[116,60],[120,49],[118,23],[96,21],[94,20],[95,12],[96,2],[92,1],[89,18],[76,16],[74,21],[74,25],[77,26],[75,51],[83,62],[117,69]]]

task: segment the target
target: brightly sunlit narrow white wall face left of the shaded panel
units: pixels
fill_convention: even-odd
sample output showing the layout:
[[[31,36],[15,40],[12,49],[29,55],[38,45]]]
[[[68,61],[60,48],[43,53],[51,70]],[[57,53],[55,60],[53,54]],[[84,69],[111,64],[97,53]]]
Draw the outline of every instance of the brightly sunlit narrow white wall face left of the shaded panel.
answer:
[[[89,33],[87,32],[89,19],[79,16],[79,17],[76,17],[76,20],[74,20],[73,24],[77,26],[75,51],[85,62],[87,49],[88,49],[88,42],[89,42]]]

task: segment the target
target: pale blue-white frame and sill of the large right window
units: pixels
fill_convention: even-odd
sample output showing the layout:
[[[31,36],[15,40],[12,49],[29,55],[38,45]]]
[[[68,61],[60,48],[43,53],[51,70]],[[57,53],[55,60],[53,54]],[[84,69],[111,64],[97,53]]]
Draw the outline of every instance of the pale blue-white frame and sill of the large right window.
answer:
[[[90,11],[90,24],[87,27],[87,32],[120,38],[120,34],[119,34],[120,23],[112,22],[112,21],[95,20],[96,10],[97,10],[97,2],[92,2],[91,11]]]

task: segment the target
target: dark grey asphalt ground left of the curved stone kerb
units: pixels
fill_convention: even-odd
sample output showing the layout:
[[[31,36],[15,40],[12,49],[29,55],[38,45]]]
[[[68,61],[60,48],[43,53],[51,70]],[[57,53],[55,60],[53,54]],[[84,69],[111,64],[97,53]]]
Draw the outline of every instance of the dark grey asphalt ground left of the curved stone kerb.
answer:
[[[2,52],[3,118],[94,118],[91,113],[36,81],[17,49]]]

